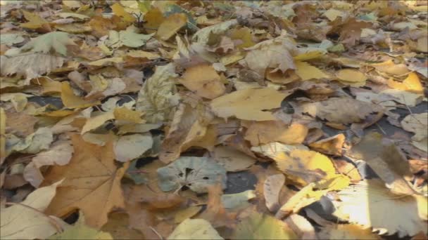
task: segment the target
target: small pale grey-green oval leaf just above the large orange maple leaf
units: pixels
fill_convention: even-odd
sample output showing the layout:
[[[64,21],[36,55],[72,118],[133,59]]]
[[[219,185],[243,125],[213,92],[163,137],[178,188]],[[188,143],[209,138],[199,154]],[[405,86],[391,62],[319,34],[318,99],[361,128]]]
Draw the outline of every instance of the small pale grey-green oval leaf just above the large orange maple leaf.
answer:
[[[151,149],[152,145],[150,133],[121,136],[114,145],[115,159],[121,162],[137,159]]]

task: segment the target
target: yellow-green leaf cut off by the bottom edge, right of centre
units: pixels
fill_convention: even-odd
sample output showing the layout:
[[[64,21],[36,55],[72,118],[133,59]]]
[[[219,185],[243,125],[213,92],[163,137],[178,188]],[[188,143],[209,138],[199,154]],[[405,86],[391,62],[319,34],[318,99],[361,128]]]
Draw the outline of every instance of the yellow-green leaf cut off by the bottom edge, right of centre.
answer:
[[[252,212],[241,220],[232,239],[296,239],[296,234],[279,219]]]

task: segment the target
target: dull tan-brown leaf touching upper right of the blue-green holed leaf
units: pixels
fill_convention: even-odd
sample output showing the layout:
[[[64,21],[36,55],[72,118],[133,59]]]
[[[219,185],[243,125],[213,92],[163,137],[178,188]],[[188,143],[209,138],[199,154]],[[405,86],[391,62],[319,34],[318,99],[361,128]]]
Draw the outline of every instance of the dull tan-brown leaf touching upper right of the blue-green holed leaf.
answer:
[[[244,171],[253,166],[257,161],[252,156],[248,156],[233,147],[227,146],[215,147],[213,155],[215,161],[228,172]]]

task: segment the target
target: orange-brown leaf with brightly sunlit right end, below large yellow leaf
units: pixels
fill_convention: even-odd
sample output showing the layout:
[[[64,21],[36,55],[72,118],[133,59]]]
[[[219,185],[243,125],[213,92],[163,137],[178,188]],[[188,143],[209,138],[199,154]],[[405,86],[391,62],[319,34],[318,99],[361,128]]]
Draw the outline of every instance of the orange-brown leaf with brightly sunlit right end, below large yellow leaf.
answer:
[[[302,124],[287,126],[282,121],[255,121],[249,124],[244,135],[245,140],[253,146],[268,142],[282,142],[284,144],[301,144],[308,135],[308,127]]]

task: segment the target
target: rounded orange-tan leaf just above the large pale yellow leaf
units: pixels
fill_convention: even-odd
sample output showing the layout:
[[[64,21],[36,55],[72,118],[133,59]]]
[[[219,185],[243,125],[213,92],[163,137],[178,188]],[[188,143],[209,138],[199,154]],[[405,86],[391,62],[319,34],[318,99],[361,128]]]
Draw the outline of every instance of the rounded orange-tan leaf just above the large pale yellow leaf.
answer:
[[[179,81],[203,98],[217,98],[226,91],[220,75],[210,65],[189,67]]]

